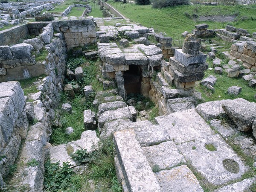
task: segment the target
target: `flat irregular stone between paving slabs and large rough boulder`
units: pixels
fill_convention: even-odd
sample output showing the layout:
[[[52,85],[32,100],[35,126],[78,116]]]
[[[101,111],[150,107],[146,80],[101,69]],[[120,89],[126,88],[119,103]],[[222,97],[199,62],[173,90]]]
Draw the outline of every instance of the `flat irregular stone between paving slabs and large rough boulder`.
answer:
[[[236,134],[237,131],[234,130],[235,126],[224,124],[221,120],[212,119],[210,121],[210,125],[215,128],[221,134],[222,137],[227,138],[231,137],[232,135]]]

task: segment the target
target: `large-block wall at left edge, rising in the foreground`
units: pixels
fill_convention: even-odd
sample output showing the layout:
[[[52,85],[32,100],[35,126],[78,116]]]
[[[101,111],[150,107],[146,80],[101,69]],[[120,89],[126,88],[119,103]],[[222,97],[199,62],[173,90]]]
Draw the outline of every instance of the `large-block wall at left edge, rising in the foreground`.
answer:
[[[23,111],[25,97],[17,81],[0,83],[0,175],[9,173],[18,154],[21,139],[26,138],[29,122]]]

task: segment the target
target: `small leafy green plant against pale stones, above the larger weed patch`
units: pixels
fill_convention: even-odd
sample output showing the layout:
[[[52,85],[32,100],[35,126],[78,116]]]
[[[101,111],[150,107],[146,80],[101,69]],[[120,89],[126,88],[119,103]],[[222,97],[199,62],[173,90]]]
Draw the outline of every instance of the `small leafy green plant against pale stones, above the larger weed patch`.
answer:
[[[71,157],[73,160],[78,161],[79,163],[91,163],[96,159],[96,152],[92,151],[88,153],[87,149],[80,149],[72,154]]]

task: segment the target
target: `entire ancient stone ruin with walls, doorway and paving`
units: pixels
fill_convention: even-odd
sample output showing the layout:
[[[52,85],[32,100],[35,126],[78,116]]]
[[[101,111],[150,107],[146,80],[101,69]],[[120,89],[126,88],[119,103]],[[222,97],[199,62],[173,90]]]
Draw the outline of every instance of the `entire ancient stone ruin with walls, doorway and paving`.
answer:
[[[62,15],[75,6],[91,11],[73,4]],[[254,39],[243,40],[241,35],[246,34],[241,29],[208,27],[200,24],[184,33],[182,47],[173,46],[171,37],[138,23],[123,23],[120,17],[55,17],[0,32],[0,38],[35,36],[18,44],[12,38],[0,41],[0,187],[47,191],[48,160],[60,167],[67,163],[77,175],[88,174],[84,170],[91,162],[77,160],[76,152],[86,151],[90,157],[110,140],[116,178],[124,192],[204,192],[205,186],[212,192],[250,191],[256,182],[256,103],[239,94],[245,88],[255,91],[255,34]],[[229,60],[226,66],[215,58],[218,45],[203,52],[205,40],[199,37],[214,35],[240,38],[230,52],[222,52]],[[42,52],[46,55],[38,60]],[[70,67],[69,57],[81,55],[86,60]],[[99,73],[91,75],[85,67],[96,67]],[[204,94],[214,93],[219,75],[242,78],[248,86],[233,84],[226,90],[230,99],[205,102]],[[83,84],[86,76],[102,89]],[[31,78],[35,79],[29,88],[35,92],[26,94],[23,80]],[[148,99],[145,106],[154,105],[157,114],[152,119],[152,108],[138,109],[138,103],[144,104],[131,97],[136,94]],[[75,118],[77,110],[74,103],[63,102],[65,97],[79,98],[79,105],[86,108],[79,114],[82,131],[76,140],[53,145],[56,129],[64,128],[64,137],[76,132],[74,126],[61,127],[61,118]]]

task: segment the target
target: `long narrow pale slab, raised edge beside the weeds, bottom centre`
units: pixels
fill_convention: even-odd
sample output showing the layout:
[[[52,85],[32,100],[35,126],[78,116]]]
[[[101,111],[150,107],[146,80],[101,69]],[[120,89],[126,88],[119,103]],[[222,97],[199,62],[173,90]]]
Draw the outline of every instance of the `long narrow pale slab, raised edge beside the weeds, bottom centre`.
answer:
[[[130,192],[160,192],[160,186],[146,160],[133,129],[114,133],[114,142],[125,182]]]

